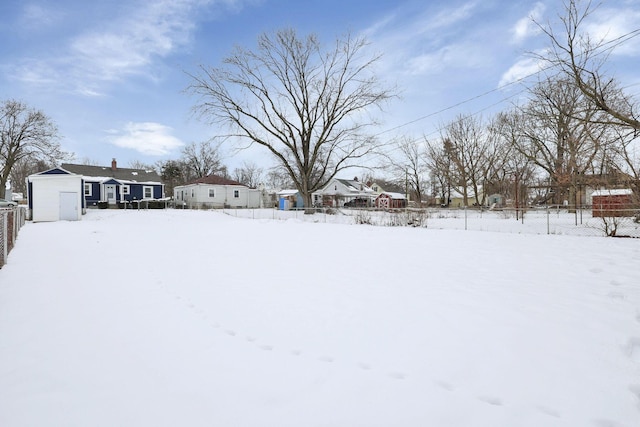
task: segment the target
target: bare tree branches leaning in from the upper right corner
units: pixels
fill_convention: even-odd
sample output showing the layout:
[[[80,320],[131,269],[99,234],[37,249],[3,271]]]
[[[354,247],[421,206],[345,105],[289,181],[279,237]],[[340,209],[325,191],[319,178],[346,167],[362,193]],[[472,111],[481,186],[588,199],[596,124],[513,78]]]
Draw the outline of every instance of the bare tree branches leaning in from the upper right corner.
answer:
[[[559,67],[586,99],[607,114],[606,122],[638,132],[640,120],[634,100],[623,94],[615,79],[607,77],[602,70],[612,49],[640,30],[613,42],[593,40],[582,32],[582,27],[595,9],[590,0],[565,0],[560,32],[555,31],[551,24],[536,22],[551,44],[549,52],[539,57]],[[599,119],[602,118],[599,116]]]

